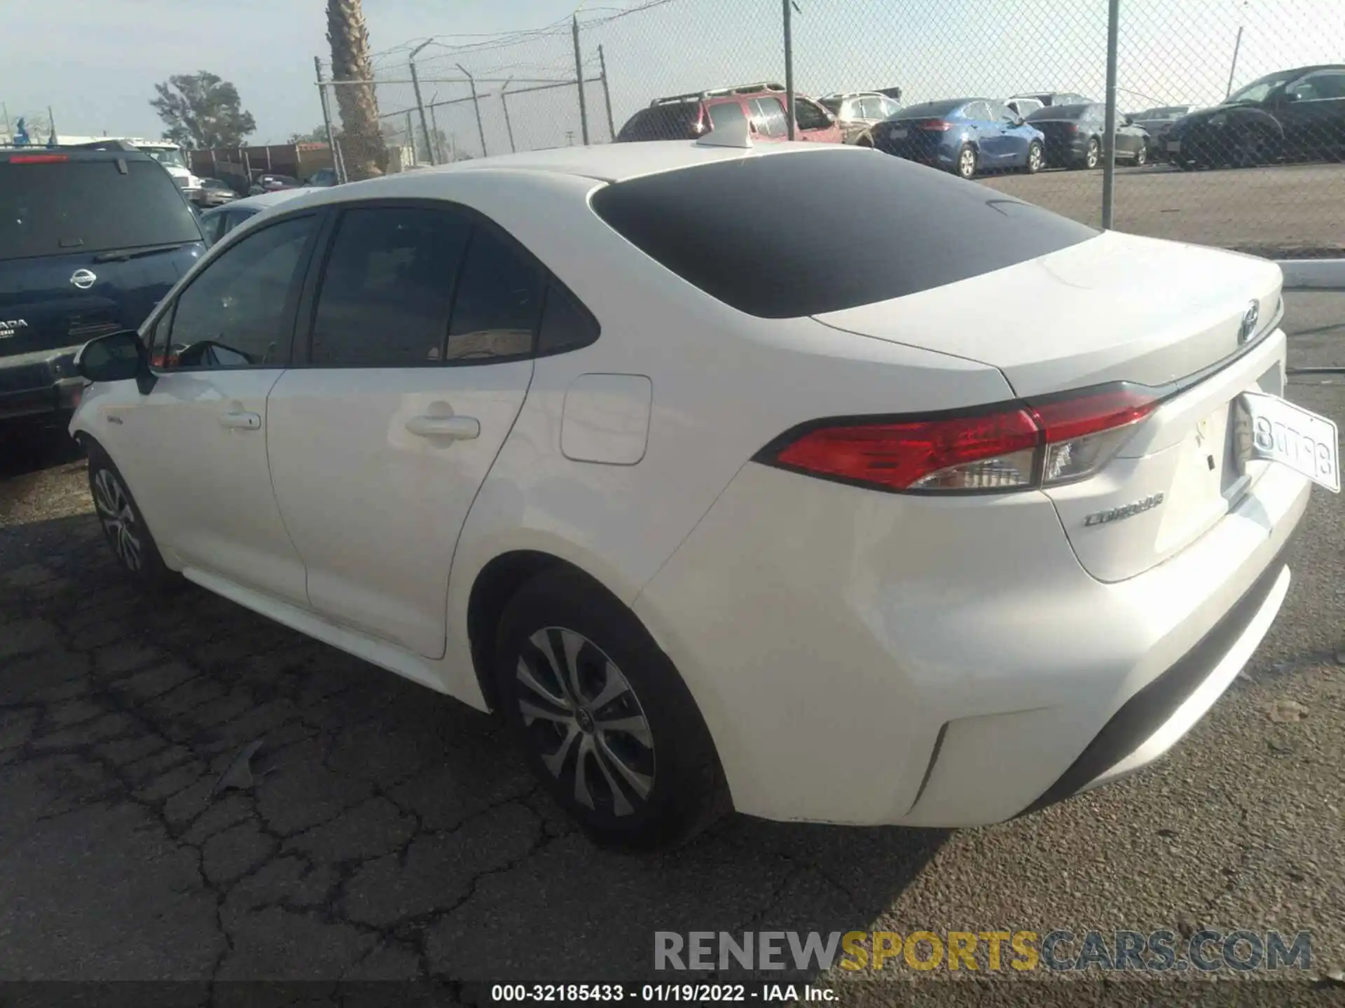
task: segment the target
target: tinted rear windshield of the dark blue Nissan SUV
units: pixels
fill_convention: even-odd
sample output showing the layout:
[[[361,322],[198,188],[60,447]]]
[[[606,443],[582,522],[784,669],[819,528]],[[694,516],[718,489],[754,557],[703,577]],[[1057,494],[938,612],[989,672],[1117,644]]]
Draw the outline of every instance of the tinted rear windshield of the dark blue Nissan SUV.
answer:
[[[0,259],[199,242],[187,200],[153,161],[0,161]]]

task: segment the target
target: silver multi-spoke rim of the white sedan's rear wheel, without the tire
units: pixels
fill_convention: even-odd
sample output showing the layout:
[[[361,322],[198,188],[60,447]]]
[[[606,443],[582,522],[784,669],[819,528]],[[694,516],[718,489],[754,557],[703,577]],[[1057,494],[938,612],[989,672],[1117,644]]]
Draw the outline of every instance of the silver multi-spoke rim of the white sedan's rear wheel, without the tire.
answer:
[[[654,735],[616,664],[581,633],[546,626],[515,672],[523,727],[542,763],[574,801],[635,814],[654,789]]]

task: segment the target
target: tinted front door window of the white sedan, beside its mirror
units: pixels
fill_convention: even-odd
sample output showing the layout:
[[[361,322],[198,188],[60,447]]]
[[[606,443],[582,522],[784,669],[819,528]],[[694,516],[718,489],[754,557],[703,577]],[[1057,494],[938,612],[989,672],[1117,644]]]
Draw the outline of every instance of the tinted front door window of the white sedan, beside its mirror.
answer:
[[[282,220],[226,249],[178,297],[171,347],[179,368],[284,367],[299,267],[316,216]]]

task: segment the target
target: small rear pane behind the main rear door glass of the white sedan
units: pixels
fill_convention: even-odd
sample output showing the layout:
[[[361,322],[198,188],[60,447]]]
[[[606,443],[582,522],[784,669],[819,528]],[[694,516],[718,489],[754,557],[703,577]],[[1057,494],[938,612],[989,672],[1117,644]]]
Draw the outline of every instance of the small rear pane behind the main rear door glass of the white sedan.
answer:
[[[537,263],[494,227],[477,224],[457,277],[445,360],[523,358],[541,313]]]

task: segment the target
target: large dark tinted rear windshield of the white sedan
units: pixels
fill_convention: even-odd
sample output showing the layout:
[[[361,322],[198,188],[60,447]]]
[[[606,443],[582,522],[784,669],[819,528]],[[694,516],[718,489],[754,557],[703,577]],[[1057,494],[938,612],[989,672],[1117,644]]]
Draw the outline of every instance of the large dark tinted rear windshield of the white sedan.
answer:
[[[800,210],[800,192],[846,199]],[[915,294],[1098,234],[983,185],[851,148],[629,179],[594,192],[592,206],[672,273],[763,319]]]

